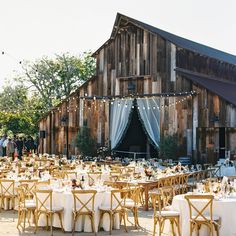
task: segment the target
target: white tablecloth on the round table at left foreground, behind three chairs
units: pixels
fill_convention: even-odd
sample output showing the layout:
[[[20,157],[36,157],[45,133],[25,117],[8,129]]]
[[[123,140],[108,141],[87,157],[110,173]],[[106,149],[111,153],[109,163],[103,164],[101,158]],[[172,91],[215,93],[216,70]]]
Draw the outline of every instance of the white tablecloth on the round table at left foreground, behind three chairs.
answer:
[[[99,213],[99,207],[102,205],[109,205],[110,204],[110,198],[111,198],[111,192],[110,191],[98,191],[95,196],[95,230],[98,230],[98,224],[100,219],[100,213]],[[65,231],[72,231],[72,225],[73,225],[73,217],[72,217],[72,210],[74,207],[74,200],[73,195],[71,192],[58,192],[53,191],[53,205],[55,207],[63,207],[63,227]],[[119,229],[120,228],[120,221],[119,216],[115,217],[114,221],[114,228]],[[46,225],[46,219],[44,216],[41,216],[39,219],[39,226],[45,226]],[[58,217],[55,215],[53,219],[53,226],[54,227],[61,227]],[[110,220],[109,216],[105,214],[103,216],[102,221],[102,227],[105,231],[109,231],[110,227]],[[76,223],[76,231],[84,231],[84,232],[92,232],[91,228],[91,221],[88,216],[84,216],[82,218],[79,217],[77,223]]]

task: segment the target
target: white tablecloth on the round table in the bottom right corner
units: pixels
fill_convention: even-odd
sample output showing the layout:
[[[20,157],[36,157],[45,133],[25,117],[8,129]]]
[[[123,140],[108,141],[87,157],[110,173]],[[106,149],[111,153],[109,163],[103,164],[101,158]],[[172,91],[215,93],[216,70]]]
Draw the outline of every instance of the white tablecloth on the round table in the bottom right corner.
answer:
[[[199,200],[199,207],[203,202]],[[172,208],[180,212],[180,224],[182,235],[187,236],[189,233],[189,207],[184,195],[177,195],[172,202]],[[223,200],[213,201],[213,215],[221,218],[220,235],[235,236],[236,235],[236,198],[227,198]],[[201,236],[209,235],[209,231],[205,226],[201,227]]]

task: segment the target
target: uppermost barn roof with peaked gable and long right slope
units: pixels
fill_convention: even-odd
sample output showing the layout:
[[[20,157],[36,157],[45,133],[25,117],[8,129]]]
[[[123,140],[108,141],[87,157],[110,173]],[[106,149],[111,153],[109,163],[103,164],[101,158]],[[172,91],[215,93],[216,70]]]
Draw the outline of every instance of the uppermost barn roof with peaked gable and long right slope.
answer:
[[[128,16],[122,15],[120,13],[117,13],[115,24],[113,27],[113,31],[111,33],[111,37],[109,40],[112,40],[115,37],[115,35],[119,29],[119,24],[122,20],[133,23],[134,25],[141,27],[143,29],[146,29],[154,34],[158,34],[162,38],[168,40],[169,42],[175,44],[178,47],[181,47],[181,48],[184,48],[184,49],[187,49],[187,50],[190,50],[190,51],[193,51],[193,52],[196,52],[196,53],[199,53],[201,55],[205,55],[205,56],[208,56],[211,58],[215,58],[215,59],[223,61],[223,62],[227,62],[227,63],[236,65],[236,56],[235,55],[217,50],[212,47],[208,47],[208,46],[200,44],[200,43],[196,43],[194,41],[182,38],[182,37],[177,36],[175,34],[171,34],[169,32],[166,32],[164,30],[161,30],[161,29],[151,26],[149,24],[146,24],[141,21],[130,18]],[[108,41],[103,46],[107,45]],[[100,47],[98,49],[98,51],[102,47]]]

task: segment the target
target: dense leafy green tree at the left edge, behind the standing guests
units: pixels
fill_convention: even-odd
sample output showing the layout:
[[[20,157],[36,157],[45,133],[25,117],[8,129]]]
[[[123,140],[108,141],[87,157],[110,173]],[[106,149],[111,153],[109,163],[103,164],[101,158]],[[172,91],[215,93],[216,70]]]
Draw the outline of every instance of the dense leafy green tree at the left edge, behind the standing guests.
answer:
[[[42,109],[40,98],[33,93],[29,96],[23,84],[3,87],[0,93],[1,133],[36,134]]]

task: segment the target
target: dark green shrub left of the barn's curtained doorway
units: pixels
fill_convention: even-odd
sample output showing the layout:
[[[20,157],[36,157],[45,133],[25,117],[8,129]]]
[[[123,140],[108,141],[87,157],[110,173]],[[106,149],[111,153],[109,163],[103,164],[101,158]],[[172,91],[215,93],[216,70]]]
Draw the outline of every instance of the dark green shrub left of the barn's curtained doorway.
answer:
[[[76,137],[76,146],[84,156],[96,155],[96,141],[91,137],[90,130],[87,126],[81,127]]]

